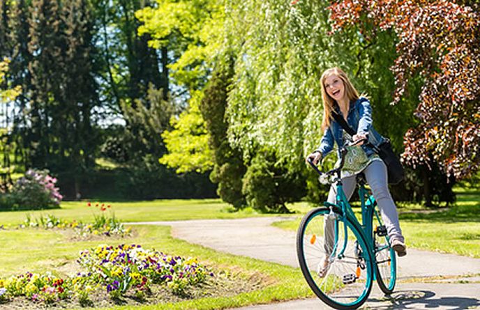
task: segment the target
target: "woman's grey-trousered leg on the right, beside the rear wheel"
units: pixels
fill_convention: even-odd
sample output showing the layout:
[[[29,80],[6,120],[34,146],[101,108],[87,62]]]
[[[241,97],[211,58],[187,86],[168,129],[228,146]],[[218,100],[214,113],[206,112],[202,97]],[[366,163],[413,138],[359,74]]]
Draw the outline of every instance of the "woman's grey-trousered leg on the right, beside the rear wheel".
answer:
[[[382,160],[375,160],[369,164],[363,172],[380,208],[380,213],[387,227],[389,237],[391,240],[398,240],[402,243],[405,242],[402,230],[400,229],[400,223],[398,222],[397,208],[391,198],[389,185],[387,183],[387,166],[385,166]]]

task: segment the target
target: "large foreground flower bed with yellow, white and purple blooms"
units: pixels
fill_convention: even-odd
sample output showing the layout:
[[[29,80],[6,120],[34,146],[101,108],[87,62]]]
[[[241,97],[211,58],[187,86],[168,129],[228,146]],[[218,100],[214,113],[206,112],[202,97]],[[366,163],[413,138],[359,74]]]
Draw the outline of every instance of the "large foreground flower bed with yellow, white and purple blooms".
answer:
[[[0,302],[26,297],[52,304],[75,297],[82,306],[91,306],[91,295],[108,295],[112,300],[133,295],[142,300],[158,286],[181,296],[213,277],[196,258],[169,256],[140,245],[99,245],[81,251],[77,263],[84,271],[65,278],[27,272],[0,279]]]

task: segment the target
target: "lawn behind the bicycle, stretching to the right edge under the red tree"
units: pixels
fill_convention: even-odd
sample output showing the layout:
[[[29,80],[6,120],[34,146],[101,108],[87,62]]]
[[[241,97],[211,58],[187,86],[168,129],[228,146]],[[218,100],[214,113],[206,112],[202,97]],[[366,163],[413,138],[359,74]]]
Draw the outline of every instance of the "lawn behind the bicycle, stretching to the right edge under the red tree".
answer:
[[[310,210],[301,206],[301,212]],[[400,208],[400,227],[408,247],[480,258],[480,192],[458,189],[456,206],[438,212],[411,212],[418,205]],[[357,217],[359,208],[354,208]],[[402,213],[402,211],[409,211]],[[273,225],[296,231],[301,220]]]

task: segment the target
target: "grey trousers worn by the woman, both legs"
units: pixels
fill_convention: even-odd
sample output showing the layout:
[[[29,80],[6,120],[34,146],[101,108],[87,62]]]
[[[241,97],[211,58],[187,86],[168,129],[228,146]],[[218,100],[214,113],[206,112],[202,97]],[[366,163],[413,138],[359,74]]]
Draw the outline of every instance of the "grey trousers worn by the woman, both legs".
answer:
[[[400,224],[398,223],[398,213],[395,203],[391,198],[389,192],[389,186],[387,182],[387,166],[385,166],[382,160],[374,160],[371,162],[366,169],[363,169],[365,178],[368,185],[372,189],[372,194],[377,201],[378,208],[380,209],[380,214],[384,225],[387,227],[387,233],[391,240],[399,240],[405,242],[402,230],[400,229]],[[355,187],[357,186],[356,176],[348,176],[342,179],[343,192],[348,199],[352,196]],[[336,201],[336,183],[332,184],[329,192],[329,203],[335,203]],[[325,216],[324,221],[324,233],[325,233],[325,251],[331,253],[333,249],[333,231],[334,231],[334,221],[329,219],[328,216]]]

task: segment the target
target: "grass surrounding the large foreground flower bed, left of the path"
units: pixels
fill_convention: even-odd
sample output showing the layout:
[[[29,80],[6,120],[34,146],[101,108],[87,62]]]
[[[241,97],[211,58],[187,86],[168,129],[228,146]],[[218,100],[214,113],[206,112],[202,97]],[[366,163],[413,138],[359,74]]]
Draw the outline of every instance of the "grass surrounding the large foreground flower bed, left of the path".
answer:
[[[207,263],[213,268],[232,269],[234,272],[240,272],[243,277],[262,274],[263,277],[271,279],[270,284],[260,290],[234,297],[203,298],[176,304],[135,307],[135,309],[225,309],[313,296],[300,270],[296,268],[190,245],[188,242],[172,238],[170,227],[167,226],[135,226],[135,231],[137,231],[136,237],[110,242],[73,242],[59,231],[33,228],[0,231],[0,243],[3,245],[3,255],[0,256],[0,277],[40,270],[43,272],[52,270],[57,274],[65,274],[68,273],[67,271],[72,271],[75,265],[73,262],[82,249],[88,249],[100,243],[108,245],[135,243],[147,248],[154,247],[168,254],[198,257],[202,263]],[[130,308],[134,307],[115,307],[115,309]]]

